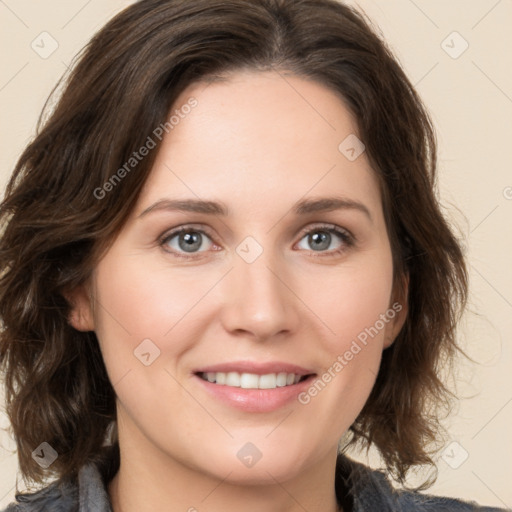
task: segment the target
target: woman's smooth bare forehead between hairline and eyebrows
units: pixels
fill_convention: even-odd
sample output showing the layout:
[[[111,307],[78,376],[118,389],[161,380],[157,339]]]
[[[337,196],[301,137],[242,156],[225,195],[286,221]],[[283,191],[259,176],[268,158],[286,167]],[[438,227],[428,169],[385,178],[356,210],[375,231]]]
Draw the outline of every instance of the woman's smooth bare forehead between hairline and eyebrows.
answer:
[[[191,98],[196,106],[183,108]],[[351,160],[343,151],[347,138],[357,141],[353,115],[317,82],[282,72],[237,72],[192,84],[173,114],[141,207],[171,195],[219,198],[233,211],[247,211],[325,194],[380,206],[365,153]]]

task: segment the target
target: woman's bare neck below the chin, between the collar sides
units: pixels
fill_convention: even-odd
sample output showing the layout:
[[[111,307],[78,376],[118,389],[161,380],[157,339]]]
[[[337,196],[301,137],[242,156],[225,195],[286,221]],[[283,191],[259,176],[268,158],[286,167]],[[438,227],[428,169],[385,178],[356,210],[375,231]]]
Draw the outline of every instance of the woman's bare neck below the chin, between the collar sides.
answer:
[[[108,484],[113,512],[338,512],[335,493],[337,450],[286,481],[233,481],[171,458],[140,432],[125,443],[119,432],[119,471]]]

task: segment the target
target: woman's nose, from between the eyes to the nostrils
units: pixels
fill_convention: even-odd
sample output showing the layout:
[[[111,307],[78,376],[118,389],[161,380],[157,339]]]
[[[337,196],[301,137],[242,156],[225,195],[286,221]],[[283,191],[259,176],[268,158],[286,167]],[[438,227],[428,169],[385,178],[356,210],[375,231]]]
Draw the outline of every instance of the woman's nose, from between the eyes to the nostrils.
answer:
[[[264,341],[297,329],[300,301],[290,272],[278,266],[270,252],[252,263],[236,257],[222,289],[221,321],[228,332]]]

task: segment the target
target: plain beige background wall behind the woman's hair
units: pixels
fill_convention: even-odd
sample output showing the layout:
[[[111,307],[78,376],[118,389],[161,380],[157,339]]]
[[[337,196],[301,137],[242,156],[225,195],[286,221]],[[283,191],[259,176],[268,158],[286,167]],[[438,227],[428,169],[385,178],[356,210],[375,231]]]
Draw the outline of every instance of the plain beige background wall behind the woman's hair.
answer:
[[[91,35],[130,3],[0,0],[2,191],[57,79]],[[512,2],[357,5],[380,27],[432,113],[442,202],[466,239],[470,261],[470,308],[460,340],[478,365],[459,365],[465,398],[446,421],[450,439],[431,492],[512,507]],[[44,48],[51,49],[42,32],[58,44],[46,59],[31,47],[43,51],[46,38]],[[0,425],[7,426],[2,413]],[[0,435],[0,508],[14,496],[14,448]]]

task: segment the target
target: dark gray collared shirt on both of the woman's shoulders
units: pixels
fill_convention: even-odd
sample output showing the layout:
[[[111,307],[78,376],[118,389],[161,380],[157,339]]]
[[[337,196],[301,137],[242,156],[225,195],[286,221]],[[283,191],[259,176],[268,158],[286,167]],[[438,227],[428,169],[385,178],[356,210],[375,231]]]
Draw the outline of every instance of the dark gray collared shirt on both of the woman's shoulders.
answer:
[[[336,494],[346,512],[504,512],[476,503],[395,490],[384,473],[340,455],[336,466]],[[345,497],[342,497],[345,496]],[[347,497],[348,496],[348,497]],[[507,509],[511,510],[511,509]],[[3,512],[112,512],[104,476],[89,463],[77,483],[49,486],[34,493],[16,494]]]

